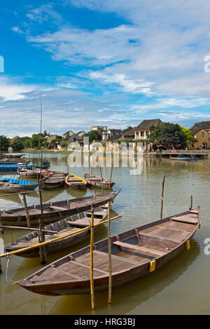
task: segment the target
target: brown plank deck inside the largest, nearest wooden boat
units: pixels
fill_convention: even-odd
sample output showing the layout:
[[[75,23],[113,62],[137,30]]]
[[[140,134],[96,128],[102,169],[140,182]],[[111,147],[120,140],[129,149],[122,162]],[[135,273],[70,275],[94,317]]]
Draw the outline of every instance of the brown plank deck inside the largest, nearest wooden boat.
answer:
[[[181,222],[183,218],[192,222]],[[180,220],[180,221],[179,221]],[[139,267],[162,257],[186,241],[195,231],[198,222],[197,213],[179,217],[170,217],[168,221],[152,227],[136,230],[136,234],[112,243],[112,274]],[[120,235],[120,234],[119,234]],[[106,249],[106,250],[105,250]],[[94,278],[109,276],[109,255],[107,248],[93,251]],[[32,281],[75,281],[90,280],[90,253],[72,257],[62,264],[51,264],[39,276],[32,276]]]

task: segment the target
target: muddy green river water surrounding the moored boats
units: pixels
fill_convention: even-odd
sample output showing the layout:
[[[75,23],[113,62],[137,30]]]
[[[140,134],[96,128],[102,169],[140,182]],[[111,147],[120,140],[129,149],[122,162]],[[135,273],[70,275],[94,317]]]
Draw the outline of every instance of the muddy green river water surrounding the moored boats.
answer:
[[[27,154],[37,163],[36,154]],[[68,168],[67,155],[44,154],[51,161],[51,169],[73,172],[83,177],[87,168]],[[90,170],[90,169],[89,169]],[[100,175],[99,169],[93,173]],[[202,227],[190,243],[190,250],[183,252],[161,269],[113,289],[113,302],[107,307],[107,292],[95,295],[95,314],[210,314],[210,255],[204,254],[204,240],[210,238],[210,159],[171,161],[170,159],[144,159],[141,175],[130,175],[130,168],[113,168],[113,189],[122,189],[112,204],[111,215],[122,214],[120,220],[111,223],[111,234],[126,231],[146,224],[160,217],[162,177],[165,180],[164,217],[185,211],[200,204]],[[109,177],[110,168],[103,169]],[[0,173],[3,177],[18,177],[15,173]],[[66,198],[91,195],[71,189],[56,189],[43,192],[43,202],[59,201]],[[29,205],[38,203],[38,193],[27,196]],[[0,196],[0,208],[19,208],[19,196]],[[26,231],[13,230],[4,234],[5,243],[14,241]],[[106,238],[106,225],[99,229],[94,241]],[[48,263],[67,255],[78,248],[87,246],[84,241],[62,253],[48,256]],[[6,258],[1,260],[3,273],[0,275],[0,314],[92,314],[90,295],[48,297],[30,293],[14,282],[6,281]],[[18,281],[41,269],[39,258],[25,259],[13,255],[8,264],[8,281]]]

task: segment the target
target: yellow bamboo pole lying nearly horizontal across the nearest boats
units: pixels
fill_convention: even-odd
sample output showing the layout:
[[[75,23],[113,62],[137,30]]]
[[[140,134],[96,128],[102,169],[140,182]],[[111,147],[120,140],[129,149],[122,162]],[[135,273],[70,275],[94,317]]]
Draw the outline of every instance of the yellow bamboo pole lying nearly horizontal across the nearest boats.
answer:
[[[120,218],[120,217],[123,217],[123,215],[118,215],[116,217],[112,217],[110,218],[110,220],[116,220],[117,218]],[[103,220],[102,222],[99,222],[97,224],[94,224],[94,227],[97,227],[98,225],[102,225],[104,223],[106,223],[107,220]],[[69,234],[65,234],[63,236],[59,236],[58,238],[55,238],[55,239],[52,239],[50,241],[45,241],[45,242],[41,242],[41,243],[36,243],[35,245],[33,246],[30,246],[30,247],[25,247],[25,248],[22,248],[22,249],[19,249],[19,250],[14,250],[14,251],[10,251],[9,253],[4,253],[4,254],[1,254],[0,255],[0,258],[2,257],[7,257],[7,256],[10,256],[10,255],[16,255],[18,253],[22,253],[23,251],[27,251],[27,250],[32,250],[32,249],[35,249],[35,248],[38,248],[40,246],[45,246],[47,245],[48,243],[53,243],[55,241],[58,241],[58,240],[61,240],[61,239],[64,239],[66,238],[67,236],[71,236],[73,234],[77,234],[77,233],[80,233],[82,231],[85,231],[86,229],[90,229],[90,226],[87,226],[87,227],[84,227],[83,229],[78,229],[78,231],[73,231]]]

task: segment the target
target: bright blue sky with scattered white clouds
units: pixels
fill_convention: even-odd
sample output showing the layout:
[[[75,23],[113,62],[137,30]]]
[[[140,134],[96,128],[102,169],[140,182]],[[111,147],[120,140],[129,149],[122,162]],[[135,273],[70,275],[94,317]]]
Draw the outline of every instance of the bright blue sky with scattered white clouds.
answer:
[[[1,0],[0,135],[38,133],[41,100],[57,135],[210,120],[209,17],[209,0]]]

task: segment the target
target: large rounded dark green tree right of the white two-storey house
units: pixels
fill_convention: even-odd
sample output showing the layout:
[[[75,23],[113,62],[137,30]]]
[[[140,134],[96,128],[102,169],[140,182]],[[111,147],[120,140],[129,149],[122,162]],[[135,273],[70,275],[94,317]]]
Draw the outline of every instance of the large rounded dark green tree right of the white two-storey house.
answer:
[[[186,135],[183,135],[178,123],[165,122],[155,127],[148,137],[149,142],[158,142],[171,146],[184,146],[187,144]]]

